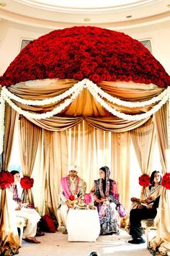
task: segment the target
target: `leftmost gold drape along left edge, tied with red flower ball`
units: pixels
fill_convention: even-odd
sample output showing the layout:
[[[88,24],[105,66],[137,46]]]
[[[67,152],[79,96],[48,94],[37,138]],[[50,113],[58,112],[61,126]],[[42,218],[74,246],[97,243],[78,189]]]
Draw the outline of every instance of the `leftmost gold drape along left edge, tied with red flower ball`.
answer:
[[[4,171],[7,171],[9,166],[15,117],[16,112],[9,105],[6,105],[4,153],[1,166]],[[12,255],[18,253],[19,248],[17,226],[14,225],[14,215],[11,209],[12,195],[8,189],[3,189],[0,191],[0,196],[0,255],[4,253]]]

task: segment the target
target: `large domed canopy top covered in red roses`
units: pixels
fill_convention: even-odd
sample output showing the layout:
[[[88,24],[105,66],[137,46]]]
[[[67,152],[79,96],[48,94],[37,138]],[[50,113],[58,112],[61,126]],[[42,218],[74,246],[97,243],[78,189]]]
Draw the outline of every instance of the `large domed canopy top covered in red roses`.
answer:
[[[9,86],[45,78],[170,85],[169,74],[142,43],[100,27],[54,30],[33,40],[12,61],[0,83]]]

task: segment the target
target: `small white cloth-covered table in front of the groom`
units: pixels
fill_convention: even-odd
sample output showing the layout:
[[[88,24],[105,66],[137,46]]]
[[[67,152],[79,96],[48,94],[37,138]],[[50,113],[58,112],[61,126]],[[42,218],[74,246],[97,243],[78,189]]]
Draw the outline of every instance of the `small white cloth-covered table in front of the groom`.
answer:
[[[100,233],[97,210],[70,209],[67,216],[69,242],[96,242]]]

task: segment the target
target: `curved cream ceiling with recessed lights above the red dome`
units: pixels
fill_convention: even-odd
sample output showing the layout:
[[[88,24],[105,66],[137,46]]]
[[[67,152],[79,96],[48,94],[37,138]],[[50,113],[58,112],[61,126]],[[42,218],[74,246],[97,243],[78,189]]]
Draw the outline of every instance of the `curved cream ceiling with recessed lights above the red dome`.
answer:
[[[0,19],[37,27],[138,27],[170,20],[170,0],[0,0]]]

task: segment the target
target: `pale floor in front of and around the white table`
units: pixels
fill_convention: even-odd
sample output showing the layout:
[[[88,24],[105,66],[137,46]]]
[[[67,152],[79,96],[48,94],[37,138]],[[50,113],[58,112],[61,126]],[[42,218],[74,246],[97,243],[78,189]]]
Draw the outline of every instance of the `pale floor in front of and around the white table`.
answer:
[[[151,256],[146,244],[129,244],[131,236],[122,230],[119,236],[99,236],[97,242],[68,242],[62,231],[45,233],[40,236],[40,244],[22,242],[19,256],[89,256],[97,252],[99,256]]]

